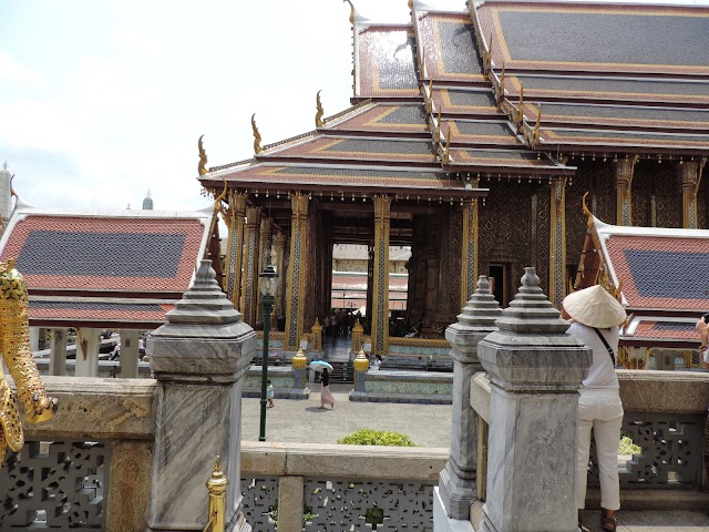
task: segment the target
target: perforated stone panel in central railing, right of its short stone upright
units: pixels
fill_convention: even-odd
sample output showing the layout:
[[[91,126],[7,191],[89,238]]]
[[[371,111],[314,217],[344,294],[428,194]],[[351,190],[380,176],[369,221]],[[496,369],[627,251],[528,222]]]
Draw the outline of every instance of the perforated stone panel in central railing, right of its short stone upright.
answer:
[[[306,532],[432,531],[433,484],[307,480]]]

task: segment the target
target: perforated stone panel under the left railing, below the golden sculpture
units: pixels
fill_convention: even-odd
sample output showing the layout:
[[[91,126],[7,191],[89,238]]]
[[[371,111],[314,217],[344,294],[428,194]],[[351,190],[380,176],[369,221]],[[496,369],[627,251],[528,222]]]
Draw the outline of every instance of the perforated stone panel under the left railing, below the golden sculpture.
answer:
[[[30,441],[0,468],[1,530],[103,531],[104,443]]]

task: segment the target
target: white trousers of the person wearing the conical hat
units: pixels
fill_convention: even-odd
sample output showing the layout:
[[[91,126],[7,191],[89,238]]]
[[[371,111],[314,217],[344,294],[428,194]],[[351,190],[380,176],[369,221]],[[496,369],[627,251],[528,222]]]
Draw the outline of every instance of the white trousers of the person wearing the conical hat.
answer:
[[[623,424],[623,403],[617,389],[583,389],[578,398],[578,461],[576,469],[576,508],[586,505],[586,475],[590,429],[596,439],[600,477],[600,505],[606,510],[620,508],[618,480],[618,447]]]

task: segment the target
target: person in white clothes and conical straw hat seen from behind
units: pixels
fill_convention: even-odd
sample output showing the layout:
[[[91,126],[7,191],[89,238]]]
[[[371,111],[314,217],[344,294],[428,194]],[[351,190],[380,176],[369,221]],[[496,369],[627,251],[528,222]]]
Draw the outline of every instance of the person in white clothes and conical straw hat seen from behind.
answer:
[[[605,288],[596,285],[566,296],[562,317],[572,324],[568,332],[593,351],[590,369],[578,398],[576,507],[583,510],[586,503],[586,475],[593,428],[600,478],[600,526],[604,532],[615,532],[616,511],[620,508],[618,447],[623,424],[623,403],[615,366],[618,326],[625,321],[626,314]],[[584,530],[580,516],[578,526]]]

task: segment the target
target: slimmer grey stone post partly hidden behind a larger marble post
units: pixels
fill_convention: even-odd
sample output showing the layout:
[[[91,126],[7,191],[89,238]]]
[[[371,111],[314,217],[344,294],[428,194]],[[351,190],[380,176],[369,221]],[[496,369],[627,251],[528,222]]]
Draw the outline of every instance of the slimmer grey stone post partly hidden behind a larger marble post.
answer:
[[[497,329],[495,319],[502,309],[490,291],[485,276],[480,276],[477,289],[471,296],[458,323],[445,329],[453,357],[453,418],[451,456],[441,471],[439,493],[450,519],[470,519],[470,505],[476,498],[479,416],[470,405],[473,375],[482,371],[477,342]]]

